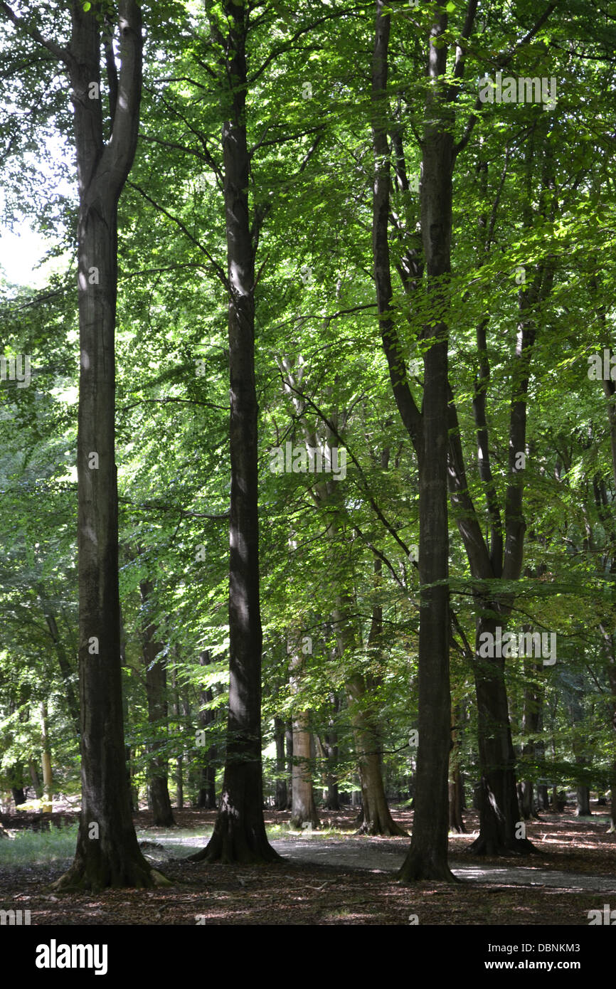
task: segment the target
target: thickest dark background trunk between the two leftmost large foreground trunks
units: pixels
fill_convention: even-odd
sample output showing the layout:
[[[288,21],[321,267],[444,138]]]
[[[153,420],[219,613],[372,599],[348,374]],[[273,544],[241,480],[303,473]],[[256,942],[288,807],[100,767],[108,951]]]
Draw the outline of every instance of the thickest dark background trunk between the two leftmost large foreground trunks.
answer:
[[[143,662],[145,665],[145,693],[147,697],[147,721],[154,740],[148,743],[147,785],[154,825],[172,828],[175,824],[169,799],[168,765],[164,755],[168,733],[167,668],[162,647],[156,642],[156,629],[148,616],[152,606],[152,584],[139,584],[143,621]]]

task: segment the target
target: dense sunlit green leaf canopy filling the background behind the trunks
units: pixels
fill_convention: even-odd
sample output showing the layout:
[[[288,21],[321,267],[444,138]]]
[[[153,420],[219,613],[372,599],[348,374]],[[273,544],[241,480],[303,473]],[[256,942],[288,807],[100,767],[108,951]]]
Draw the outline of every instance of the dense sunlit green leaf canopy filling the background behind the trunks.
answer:
[[[27,7],[28,5],[23,5]],[[613,337],[616,238],[614,43],[616,8],[559,4],[516,76],[555,77],[555,109],[478,105],[480,76],[520,43],[537,15],[526,2],[482,5],[461,83],[457,138],[478,116],[454,179],[451,386],[470,492],[488,522],[473,399],[486,324],[485,404],[494,492],[507,480],[508,416],[519,295],[541,269],[550,286],[532,303],[537,325],[527,406],[522,580],[509,627],[555,632],[557,662],[507,662],[519,777],[604,792],[614,763],[616,480],[609,402],[588,358]],[[62,5],[31,5],[61,34]],[[333,771],[357,789],[347,684],[365,676],[376,708],[388,793],[410,795],[416,719],[417,468],[392,397],[376,317],[371,243],[371,4],[252,5],[247,125],[250,197],[263,218],[257,269],[256,362],[260,406],[261,599],[264,628],[265,792],[274,797],[274,718],[309,712],[319,744],[315,785]],[[416,241],[419,147],[426,81],[423,42],[435,4],[393,3],[391,107],[410,188],[393,190],[394,265]],[[450,33],[464,8],[449,4]],[[228,382],[220,107],[220,5],[144,5],[147,25],[141,135],[121,201],[117,394],[121,594],[127,741],[133,780],[163,740],[170,772],[183,757],[185,799],[195,800],[206,753],[223,764],[226,701]],[[222,25],[220,24],[220,27]],[[4,222],[27,217],[51,232],[57,255],[74,243],[75,202],[53,194],[69,165],[53,163],[51,135],[70,138],[69,101],[44,55],[3,25],[0,77]],[[25,66],[24,59],[28,64]],[[458,85],[454,80],[453,85]],[[29,109],[30,108],[30,109]],[[413,189],[415,191],[413,191]],[[78,789],[78,744],[67,702],[76,687],[75,512],[77,335],[75,261],[47,289],[2,286],[2,353],[31,355],[32,382],[0,385],[0,790],[30,785],[47,705],[56,792]],[[544,288],[545,285],[544,285]],[[427,300],[427,296],[425,297]],[[421,404],[419,328],[434,320],[395,287],[396,325]],[[414,367],[411,361],[418,361]],[[611,400],[613,403],[613,399]],[[307,437],[346,450],[346,475],[274,473],[275,447]],[[329,483],[325,485],[325,482]],[[477,778],[469,644],[473,582],[455,513],[450,522],[452,697],[461,768]],[[375,560],[381,567],[375,570]],[[151,582],[145,605],[139,584]],[[343,655],[333,611],[342,596],[354,632]],[[383,634],[369,641],[376,609]],[[54,636],[49,615],[57,626]],[[167,665],[168,723],[148,723],[142,658],[147,622]],[[606,638],[607,637],[607,638]],[[611,647],[606,649],[606,641]],[[303,647],[305,647],[303,649]],[[58,650],[66,657],[63,676]],[[199,657],[210,652],[204,670]],[[303,652],[292,684],[289,657]],[[543,726],[523,722],[532,684]],[[537,699],[538,698],[538,699]],[[196,733],[203,712],[207,744]],[[324,739],[335,737],[335,765]],[[540,746],[529,743],[539,741]],[[524,749],[524,753],[523,753]],[[186,775],[186,773],[188,773]],[[174,793],[171,779],[172,797]]]

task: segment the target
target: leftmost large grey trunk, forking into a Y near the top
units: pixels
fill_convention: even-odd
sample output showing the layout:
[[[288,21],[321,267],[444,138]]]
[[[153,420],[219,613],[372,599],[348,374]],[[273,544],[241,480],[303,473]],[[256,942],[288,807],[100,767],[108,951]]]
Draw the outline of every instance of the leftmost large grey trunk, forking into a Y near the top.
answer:
[[[103,137],[101,25],[73,0],[68,50],[79,185],[80,379],[77,430],[82,810],[75,859],[57,885],[157,881],[140,853],[125,763],[118,590],[115,328],[118,201],[132,167],[141,94],[141,12],[120,0],[120,78],[108,62],[112,135]],[[94,87],[94,91],[93,91]]]

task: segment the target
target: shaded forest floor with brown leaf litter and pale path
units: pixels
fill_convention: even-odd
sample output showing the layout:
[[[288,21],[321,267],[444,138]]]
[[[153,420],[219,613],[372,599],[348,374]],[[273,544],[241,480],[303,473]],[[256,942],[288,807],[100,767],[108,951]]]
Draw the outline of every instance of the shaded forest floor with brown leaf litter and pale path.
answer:
[[[266,812],[270,841],[283,859],[259,866],[183,860],[206,844],[215,811],[175,811],[177,827],[168,830],[154,828],[151,815],[140,811],[134,815],[138,837],[150,843],[143,852],[171,887],[51,892],[49,884],[70,863],[73,826],[61,848],[30,858],[26,851],[11,860],[8,846],[15,843],[0,842],[0,910],[30,910],[32,924],[70,926],[587,925],[588,911],[602,910],[610,896],[616,908],[616,836],[607,834],[608,817],[597,810],[590,818],[542,812],[527,825],[536,854],[511,858],[468,854],[478,821],[466,813],[469,834],[449,840],[451,867],[463,880],[453,886],[400,885],[396,870],[408,839],[358,837],[350,811],[324,812],[321,830],[303,833],[289,831],[288,813]],[[412,812],[395,810],[394,816],[410,828]],[[5,817],[18,838],[47,821],[59,827],[74,820],[67,813]]]

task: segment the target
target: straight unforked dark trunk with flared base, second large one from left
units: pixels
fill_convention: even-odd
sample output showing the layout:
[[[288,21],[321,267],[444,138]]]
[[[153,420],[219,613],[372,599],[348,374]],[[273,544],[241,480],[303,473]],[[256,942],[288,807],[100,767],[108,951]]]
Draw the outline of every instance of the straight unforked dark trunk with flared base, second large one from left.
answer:
[[[263,819],[261,777],[261,650],[257,396],[254,379],[254,261],[248,206],[246,139],[248,5],[223,0],[222,125],[228,288],[229,450],[229,705],[226,759],[214,834],[194,859],[273,861]],[[218,29],[217,29],[218,30]]]

